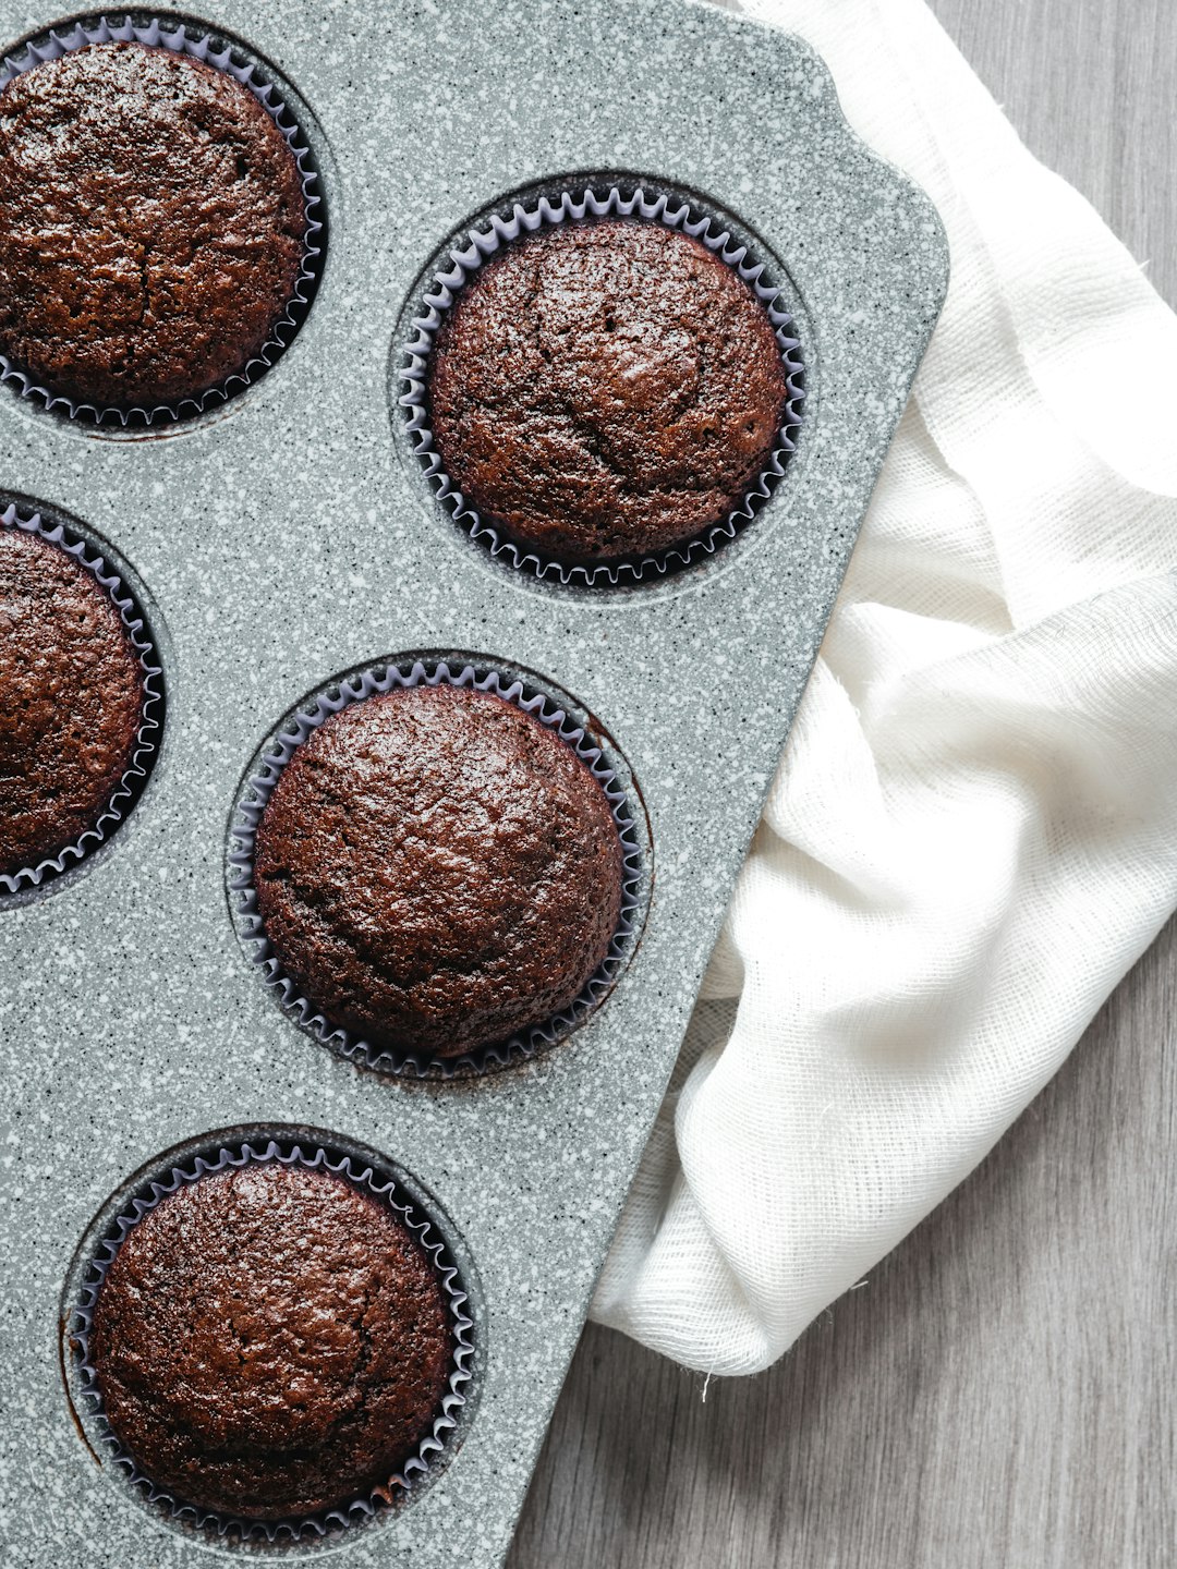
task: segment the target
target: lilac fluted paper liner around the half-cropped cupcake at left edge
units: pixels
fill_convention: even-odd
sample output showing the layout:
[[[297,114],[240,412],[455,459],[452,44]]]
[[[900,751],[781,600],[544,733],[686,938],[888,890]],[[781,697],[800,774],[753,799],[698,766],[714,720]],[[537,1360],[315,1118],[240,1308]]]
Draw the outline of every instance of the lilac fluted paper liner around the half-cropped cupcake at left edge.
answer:
[[[138,654],[140,670],[143,672],[143,717],[135,750],[130,755],[130,766],[115,786],[102,814],[85,833],[78,835],[71,844],[66,844],[56,855],[46,857],[35,866],[22,866],[16,872],[0,872],[0,893],[20,893],[28,888],[39,888],[44,882],[64,872],[71,865],[83,860],[99,844],[104,844],[141,795],[155,763],[163,728],[160,717],[163,712],[163,668],[159,662],[159,653],[151,639],[146,617],[135,596],[127,590],[118,573],[107,568],[105,557],[94,546],[66,529],[64,524],[46,522],[39,511],[25,515],[14,504],[0,513],[0,529],[19,529],[22,533],[36,533],[50,544],[56,544],[66,555],[72,555],[80,566],[85,566],[102,585],[107,598],[119,612],[130,645]]]

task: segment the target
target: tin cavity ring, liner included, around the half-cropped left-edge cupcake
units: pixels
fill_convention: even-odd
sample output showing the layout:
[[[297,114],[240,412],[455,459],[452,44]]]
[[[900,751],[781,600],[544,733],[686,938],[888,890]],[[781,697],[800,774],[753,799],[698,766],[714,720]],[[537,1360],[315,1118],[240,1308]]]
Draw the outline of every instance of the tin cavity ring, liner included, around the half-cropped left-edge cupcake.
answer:
[[[3,905],[47,893],[61,880],[72,880],[71,872],[82,863],[89,865],[105,849],[148,788],[163,739],[166,697],[160,639],[143,607],[141,590],[132,587],[137,584],[135,574],[118,552],[83,524],[39,502],[0,494],[0,532],[36,535],[64,551],[94,577],[118,612],[130,650],[138,659],[143,689],[140,726],[129,764],[105,806],[85,832],[61,849],[33,860],[28,866],[0,872],[0,905]],[[2,598],[3,584],[0,584]]]

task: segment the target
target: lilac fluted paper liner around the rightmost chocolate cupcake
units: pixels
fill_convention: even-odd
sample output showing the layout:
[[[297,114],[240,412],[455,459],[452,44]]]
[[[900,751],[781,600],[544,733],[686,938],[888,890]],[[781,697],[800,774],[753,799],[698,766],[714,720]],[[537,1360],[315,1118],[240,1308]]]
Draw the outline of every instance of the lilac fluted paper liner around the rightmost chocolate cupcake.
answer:
[[[678,544],[651,551],[647,555],[620,557],[599,563],[567,563],[534,546],[516,543],[466,502],[465,494],[446,472],[441,457],[433,447],[428,416],[428,366],[438,331],[458,298],[458,292],[499,249],[513,245],[527,234],[535,234],[543,226],[612,217],[662,223],[669,229],[687,234],[706,245],[749,284],[764,306],[777,334],[789,395],[785,405],[785,422],[778,431],[777,446],[769,453],[767,464],[727,518]],[[805,397],[803,366],[797,353],[800,342],[791,333],[793,317],[778,304],[780,286],[766,278],[766,264],[750,257],[747,246],[736,243],[719,218],[701,209],[692,209],[689,201],[665,191],[647,196],[640,185],[629,196],[623,196],[618,187],[612,185],[607,196],[585,187],[579,198],[562,190],[552,198],[540,196],[530,206],[515,202],[510,218],[501,218],[494,213],[486,228],[471,229],[468,238],[468,245],[455,245],[450,249],[452,265],[433,275],[424,295],[427,309],[422,315],[413,317],[414,336],[403,347],[405,362],[397,372],[399,381],[405,386],[399,403],[408,411],[406,428],[413,449],[424,468],[425,479],[435,486],[438,499],[450,508],[455,522],[461,524],[472,540],[486,548],[491,557],[505,560],[516,571],[526,571],[538,579],[554,579],[565,587],[576,584],[588,588],[606,584],[618,587],[650,577],[664,577],[667,573],[681,571],[697,560],[714,555],[725,541],[734,540],[736,533],[756,516],[760,504],[767,501],[785,474],[789,457],[796,450],[793,433],[800,425],[800,403]]]

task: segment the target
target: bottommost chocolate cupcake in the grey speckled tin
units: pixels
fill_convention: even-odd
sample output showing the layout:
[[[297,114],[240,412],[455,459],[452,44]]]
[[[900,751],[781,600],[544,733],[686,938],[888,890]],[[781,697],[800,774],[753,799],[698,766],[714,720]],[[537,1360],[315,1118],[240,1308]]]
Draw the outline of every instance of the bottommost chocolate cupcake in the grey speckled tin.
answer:
[[[138,1467],[242,1520],[388,1486],[433,1432],[452,1357],[441,1283],[397,1214],[278,1161],[182,1185],[132,1225],[88,1345]]]

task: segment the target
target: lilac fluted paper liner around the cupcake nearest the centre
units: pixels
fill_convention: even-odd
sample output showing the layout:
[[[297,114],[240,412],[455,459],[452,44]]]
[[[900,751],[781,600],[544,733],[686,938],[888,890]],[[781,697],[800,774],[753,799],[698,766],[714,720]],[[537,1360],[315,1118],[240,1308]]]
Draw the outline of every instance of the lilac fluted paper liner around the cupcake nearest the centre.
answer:
[[[281,778],[282,769],[308,736],[333,714],[350,708],[353,703],[363,703],[377,693],[391,692],[394,687],[406,690],[422,684],[441,686],[443,683],[454,687],[472,687],[476,692],[493,692],[496,697],[505,698],[505,701],[523,709],[524,714],[530,714],[532,719],[537,719],[571,747],[606,794],[614,822],[617,824],[623,855],[621,912],[617,930],[609,945],[609,952],[588,977],[579,996],[567,1009],[543,1023],[534,1025],[530,1029],[515,1034],[508,1040],[476,1047],[457,1058],[377,1047],[355,1031],[333,1025],[309,998],[303,996],[275,957],[257,910],[257,890],[254,886],[257,825],[262,821],[262,814]],[[246,778],[237,802],[235,821],[229,830],[229,901],[231,907],[235,904],[234,913],[242,945],[253,962],[259,965],[267,985],[278,995],[279,1006],[325,1047],[331,1047],[342,1056],[381,1073],[417,1078],[454,1078],[458,1073],[485,1073],[496,1067],[507,1067],[515,1061],[532,1058],[557,1040],[563,1040],[573,1029],[584,1023],[588,1014],[612,990],[632,952],[640,924],[642,855],[637,844],[634,816],[626,792],[606,761],[603,750],[593,745],[585,736],[584,728],[576,726],[565,711],[545,692],[538,689],[529,690],[518,676],[504,675],[497,670],[490,670],[486,675],[479,676],[471,664],[463,665],[457,673],[450,670],[446,661],[425,662],[417,659],[408,672],[400,670],[395,664],[372,664],[352,672],[314,698],[311,704],[298,708],[278,731],[273,747],[262,753],[261,763],[261,769]]]

